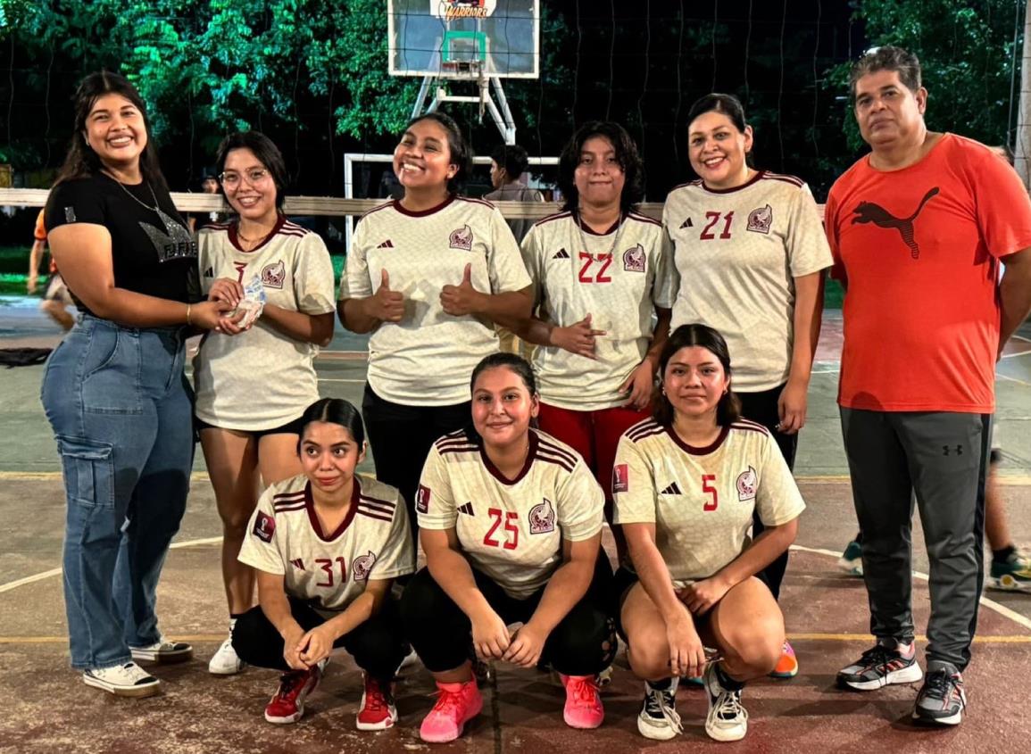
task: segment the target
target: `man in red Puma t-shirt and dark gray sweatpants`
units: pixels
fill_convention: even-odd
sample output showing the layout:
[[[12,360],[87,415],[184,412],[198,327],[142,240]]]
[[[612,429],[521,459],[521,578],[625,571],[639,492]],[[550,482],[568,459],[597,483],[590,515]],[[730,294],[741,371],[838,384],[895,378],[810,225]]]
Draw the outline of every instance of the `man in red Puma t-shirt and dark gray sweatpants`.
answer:
[[[984,581],[995,362],[1031,310],[1031,201],[987,146],[927,130],[916,56],[875,48],[850,80],[871,152],[834,183],[826,225],[832,275],[846,289],[838,403],[877,644],[838,683],[923,678],[910,605],[916,494],[931,619],[912,715],[955,725]]]

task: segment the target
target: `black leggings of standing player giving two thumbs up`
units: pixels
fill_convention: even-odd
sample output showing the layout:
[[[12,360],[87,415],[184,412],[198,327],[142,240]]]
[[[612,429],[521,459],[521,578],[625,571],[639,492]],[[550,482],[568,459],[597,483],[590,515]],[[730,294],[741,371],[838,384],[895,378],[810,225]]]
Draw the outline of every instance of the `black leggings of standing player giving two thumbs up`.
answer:
[[[401,490],[417,543],[415,490],[426,456],[440,437],[469,423],[469,401],[453,406],[403,406],[380,398],[365,385],[362,418],[369,433],[376,479]]]

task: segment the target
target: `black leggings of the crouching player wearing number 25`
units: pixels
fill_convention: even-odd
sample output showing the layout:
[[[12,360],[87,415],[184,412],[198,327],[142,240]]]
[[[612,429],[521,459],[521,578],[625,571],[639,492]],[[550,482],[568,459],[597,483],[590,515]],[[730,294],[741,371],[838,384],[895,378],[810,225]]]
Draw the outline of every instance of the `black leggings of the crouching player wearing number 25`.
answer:
[[[526,599],[509,596],[490,577],[472,569],[476,587],[505,623],[525,623],[544,593],[541,587]],[[602,555],[595,566],[587,594],[566,614],[544,642],[542,664],[567,676],[590,676],[603,671],[616,657],[616,623],[608,610],[612,569]],[[471,656],[472,624],[424,568],[401,597],[401,619],[412,647],[426,670],[442,673]]]

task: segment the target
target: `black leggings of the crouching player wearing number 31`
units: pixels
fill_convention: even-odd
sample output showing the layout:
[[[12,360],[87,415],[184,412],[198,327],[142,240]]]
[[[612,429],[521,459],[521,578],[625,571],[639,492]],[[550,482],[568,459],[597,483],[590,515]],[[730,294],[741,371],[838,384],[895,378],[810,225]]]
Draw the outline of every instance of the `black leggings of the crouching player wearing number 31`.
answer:
[[[326,618],[302,599],[290,597],[290,612],[306,631],[326,622]],[[373,678],[393,678],[408,653],[397,603],[386,599],[378,613],[337,639],[333,646],[345,649],[354,656],[355,663]],[[233,649],[240,659],[257,667],[291,670],[282,658],[282,637],[260,607],[251,608],[236,621]]]

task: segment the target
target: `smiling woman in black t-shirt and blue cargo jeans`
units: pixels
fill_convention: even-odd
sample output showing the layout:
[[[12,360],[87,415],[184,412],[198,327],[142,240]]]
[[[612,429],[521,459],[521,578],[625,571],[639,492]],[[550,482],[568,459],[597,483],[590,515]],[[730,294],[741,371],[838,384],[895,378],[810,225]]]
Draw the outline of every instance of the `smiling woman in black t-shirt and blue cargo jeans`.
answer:
[[[159,682],[133,660],[193,651],[162,639],[155,590],[193,466],[186,331],[215,328],[226,305],[193,303],[197,246],[132,84],[115,73],[87,76],[74,134],[45,219],[82,316],[51,356],[42,387],[68,498],[71,662],[90,686],[147,696]]]

